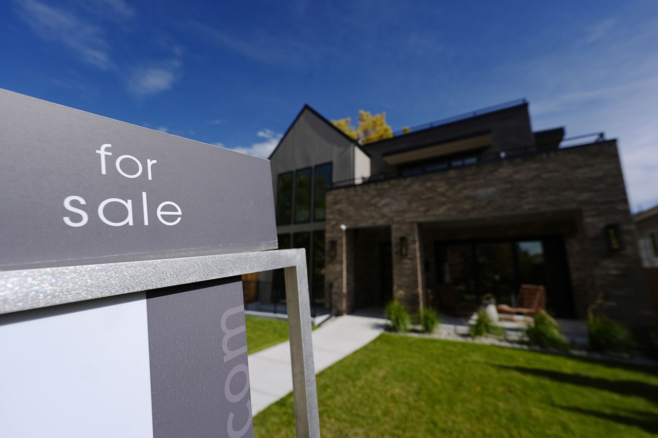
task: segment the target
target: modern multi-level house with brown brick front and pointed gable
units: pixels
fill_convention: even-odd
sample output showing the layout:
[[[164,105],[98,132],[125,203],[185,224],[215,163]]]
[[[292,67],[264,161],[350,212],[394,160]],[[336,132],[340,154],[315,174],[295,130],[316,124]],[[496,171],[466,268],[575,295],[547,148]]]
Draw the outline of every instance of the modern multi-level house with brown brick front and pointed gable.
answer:
[[[307,249],[313,300],[338,313],[513,305],[532,283],[555,316],[603,295],[649,326],[617,142],[564,135],[534,132],[523,100],[361,145],[305,106],[270,156],[280,248]]]

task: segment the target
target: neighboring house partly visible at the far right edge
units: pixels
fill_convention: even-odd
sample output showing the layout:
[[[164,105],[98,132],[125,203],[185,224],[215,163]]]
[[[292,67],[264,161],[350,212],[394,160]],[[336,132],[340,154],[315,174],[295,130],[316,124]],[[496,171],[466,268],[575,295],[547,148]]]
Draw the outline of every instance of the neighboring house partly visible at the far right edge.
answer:
[[[658,205],[635,214],[633,219],[638,230],[638,249],[649,295],[658,314]]]

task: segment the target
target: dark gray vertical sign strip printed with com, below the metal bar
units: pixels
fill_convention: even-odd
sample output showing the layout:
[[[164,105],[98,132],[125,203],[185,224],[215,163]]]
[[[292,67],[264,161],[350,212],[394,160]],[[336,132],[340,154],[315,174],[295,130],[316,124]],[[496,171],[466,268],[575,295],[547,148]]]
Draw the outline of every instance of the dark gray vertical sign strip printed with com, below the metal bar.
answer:
[[[240,278],[146,296],[153,437],[253,437]]]

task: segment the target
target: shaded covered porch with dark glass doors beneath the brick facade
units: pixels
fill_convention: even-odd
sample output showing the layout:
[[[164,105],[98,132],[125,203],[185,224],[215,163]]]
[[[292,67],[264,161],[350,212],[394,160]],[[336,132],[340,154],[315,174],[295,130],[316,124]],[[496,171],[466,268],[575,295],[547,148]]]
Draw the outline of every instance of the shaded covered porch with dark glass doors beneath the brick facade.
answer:
[[[347,228],[334,303],[351,313],[395,298],[412,313],[468,319],[483,297],[517,306],[520,285],[534,284],[553,316],[582,319],[588,287],[572,275],[583,264],[581,220],[567,209]]]

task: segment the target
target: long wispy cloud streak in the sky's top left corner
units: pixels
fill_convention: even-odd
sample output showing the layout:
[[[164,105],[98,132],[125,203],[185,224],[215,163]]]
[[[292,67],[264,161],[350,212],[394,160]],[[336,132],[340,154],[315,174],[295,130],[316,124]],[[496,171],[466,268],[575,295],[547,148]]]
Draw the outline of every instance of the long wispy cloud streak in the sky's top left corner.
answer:
[[[37,0],[20,0],[16,5],[18,16],[42,38],[62,43],[80,61],[101,70],[113,67],[110,45],[99,26]]]

